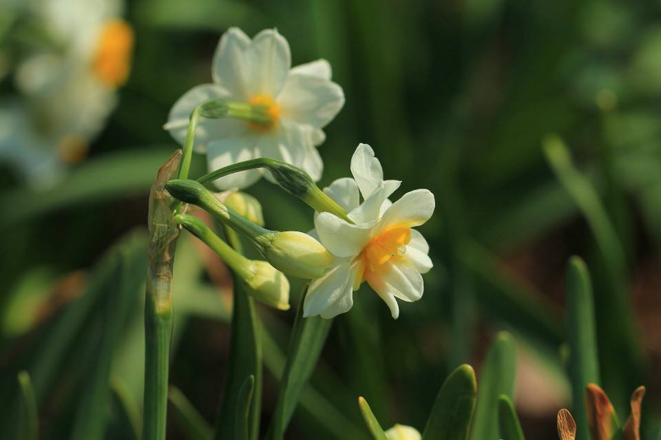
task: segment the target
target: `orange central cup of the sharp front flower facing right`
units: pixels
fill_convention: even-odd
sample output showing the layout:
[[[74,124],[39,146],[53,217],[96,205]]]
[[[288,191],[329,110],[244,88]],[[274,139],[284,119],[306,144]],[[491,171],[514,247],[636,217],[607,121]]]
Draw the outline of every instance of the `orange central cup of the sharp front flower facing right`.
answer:
[[[406,251],[406,244],[410,241],[411,229],[407,227],[386,229],[370,240],[358,255],[362,276],[356,277],[357,284],[360,285],[364,280],[369,281],[370,277],[379,277],[386,263],[401,258]]]

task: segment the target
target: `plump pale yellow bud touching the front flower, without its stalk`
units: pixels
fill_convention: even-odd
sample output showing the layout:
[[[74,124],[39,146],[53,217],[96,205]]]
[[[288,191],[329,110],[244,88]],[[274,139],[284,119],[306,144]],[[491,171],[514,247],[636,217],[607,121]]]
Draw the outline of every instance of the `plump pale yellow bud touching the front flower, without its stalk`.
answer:
[[[306,233],[271,233],[262,238],[262,244],[266,260],[275,268],[294,277],[318,278],[333,264],[333,255]]]

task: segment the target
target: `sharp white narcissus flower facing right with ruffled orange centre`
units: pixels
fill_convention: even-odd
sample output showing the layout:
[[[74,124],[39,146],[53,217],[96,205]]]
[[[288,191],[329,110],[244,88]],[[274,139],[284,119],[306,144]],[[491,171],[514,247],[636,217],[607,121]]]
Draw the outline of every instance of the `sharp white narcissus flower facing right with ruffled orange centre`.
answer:
[[[304,302],[304,316],[330,318],[353,306],[353,291],[366,281],[399,316],[397,300],[417,301],[423,294],[421,273],[432,268],[429,246],[412,229],[434,212],[434,195],[410,191],[397,202],[388,197],[401,182],[384,180],[381,163],[369,145],[358,145],[351,159],[352,178],[335,180],[324,192],[348,211],[347,222],[331,213],[315,214],[311,233],[335,256],[335,266],[313,280]],[[359,203],[359,194],[364,202]]]

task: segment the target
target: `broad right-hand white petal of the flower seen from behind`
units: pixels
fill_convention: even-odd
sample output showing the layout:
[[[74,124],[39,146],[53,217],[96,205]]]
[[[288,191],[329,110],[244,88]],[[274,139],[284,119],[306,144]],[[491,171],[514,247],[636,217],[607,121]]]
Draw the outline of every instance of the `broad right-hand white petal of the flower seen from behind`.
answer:
[[[342,109],[344,92],[339,85],[317,76],[289,75],[277,103],[284,117],[321,128]]]

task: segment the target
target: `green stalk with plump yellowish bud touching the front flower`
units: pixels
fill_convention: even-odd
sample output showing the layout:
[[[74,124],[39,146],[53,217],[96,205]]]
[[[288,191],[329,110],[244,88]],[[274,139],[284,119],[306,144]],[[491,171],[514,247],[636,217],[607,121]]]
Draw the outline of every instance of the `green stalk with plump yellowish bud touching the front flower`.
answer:
[[[302,232],[269,231],[260,227],[229,209],[200,182],[170,180],[165,188],[178,200],[201,207],[223,224],[246,235],[275,269],[287,275],[318,278],[333,264],[333,255],[315,238]]]

